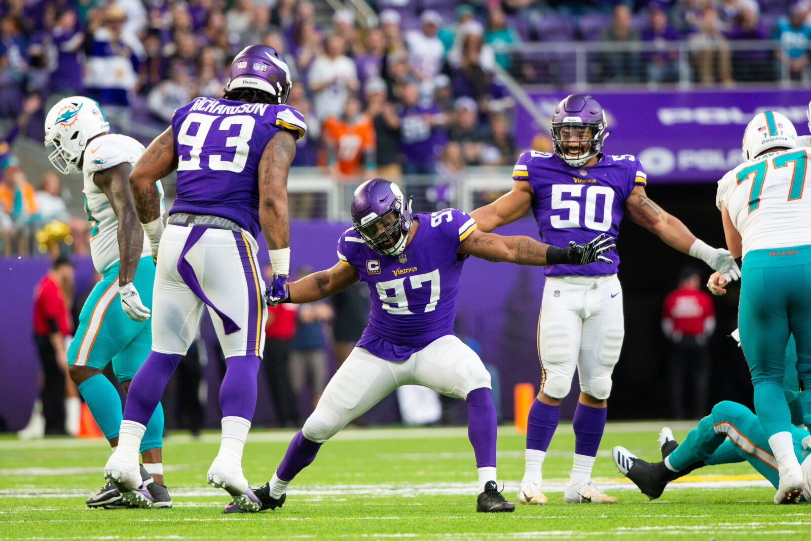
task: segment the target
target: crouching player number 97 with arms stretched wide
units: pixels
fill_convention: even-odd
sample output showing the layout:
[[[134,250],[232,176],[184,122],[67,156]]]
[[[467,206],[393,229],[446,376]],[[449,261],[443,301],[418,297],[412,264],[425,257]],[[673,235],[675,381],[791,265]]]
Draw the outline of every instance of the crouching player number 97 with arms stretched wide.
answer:
[[[285,303],[311,303],[360,280],[371,292],[369,324],[329,381],[315,411],[294,436],[272,479],[258,488],[263,509],[285,501],[287,485],[321,444],[401,385],[418,384],[467,401],[480,493],[476,510],[512,512],[496,487],[496,408],[481,359],[453,334],[459,277],[467,255],[517,264],[610,264],[613,239],[558,248],[529,237],[483,233],[466,213],[448,208],[410,213],[402,191],[382,178],[363,182],[352,197],[351,229],[338,240],[333,268],[273,293]],[[226,513],[241,512],[229,505]]]

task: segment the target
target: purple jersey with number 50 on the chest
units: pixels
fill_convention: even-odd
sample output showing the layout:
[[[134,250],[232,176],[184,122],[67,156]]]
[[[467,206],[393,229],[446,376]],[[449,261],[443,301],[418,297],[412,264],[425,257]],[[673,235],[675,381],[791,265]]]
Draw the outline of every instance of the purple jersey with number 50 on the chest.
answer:
[[[513,179],[530,182],[532,213],[538,221],[543,243],[566,247],[573,240],[587,243],[600,233],[617,238],[625,200],[633,187],[645,186],[642,163],[630,154],[601,155],[589,167],[573,167],[551,152],[524,152],[513,169]],[[595,261],[587,265],[550,265],[547,276],[599,276],[615,274],[620,256],[609,254],[614,263]]]

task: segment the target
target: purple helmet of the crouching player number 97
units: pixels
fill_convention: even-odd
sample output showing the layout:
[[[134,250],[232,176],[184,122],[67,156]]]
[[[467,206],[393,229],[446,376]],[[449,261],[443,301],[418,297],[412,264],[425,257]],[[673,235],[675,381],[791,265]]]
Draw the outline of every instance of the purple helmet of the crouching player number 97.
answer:
[[[352,227],[380,255],[400,255],[411,229],[409,207],[397,184],[372,178],[352,195]]]

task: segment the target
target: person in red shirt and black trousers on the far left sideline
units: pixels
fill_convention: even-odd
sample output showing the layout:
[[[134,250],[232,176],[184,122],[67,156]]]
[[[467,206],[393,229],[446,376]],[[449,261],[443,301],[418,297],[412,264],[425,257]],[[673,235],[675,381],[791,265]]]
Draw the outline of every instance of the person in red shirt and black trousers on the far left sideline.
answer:
[[[73,264],[59,256],[34,290],[34,341],[40,354],[45,384],[41,389],[45,434],[65,432],[65,385],[71,320],[64,290],[73,286]]]

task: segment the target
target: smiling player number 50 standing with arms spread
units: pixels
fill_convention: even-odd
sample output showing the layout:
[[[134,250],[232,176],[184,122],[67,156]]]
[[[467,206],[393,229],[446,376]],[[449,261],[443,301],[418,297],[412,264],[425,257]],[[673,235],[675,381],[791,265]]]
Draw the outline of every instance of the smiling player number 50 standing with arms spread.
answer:
[[[615,237],[623,213],[667,245],[704,260],[732,280],[740,271],[727,250],[695,237],[676,217],[645,193],[647,176],[637,158],[603,154],[606,116],[593,97],[572,94],[551,120],[555,152],[524,152],[513,170],[513,189],[470,213],[483,231],[523,217],[532,208],[541,240],[582,242],[594,234]],[[574,414],[574,462],[564,502],[615,503],[591,480],[603,436],[611,372],[624,337],[618,257],[582,267],[544,268],[543,310],[539,320],[541,389],[530,408],[526,470],[518,491],[521,504],[546,504],[543,459],[560,419],[560,401],[569,393],[574,370],[580,397]]]

